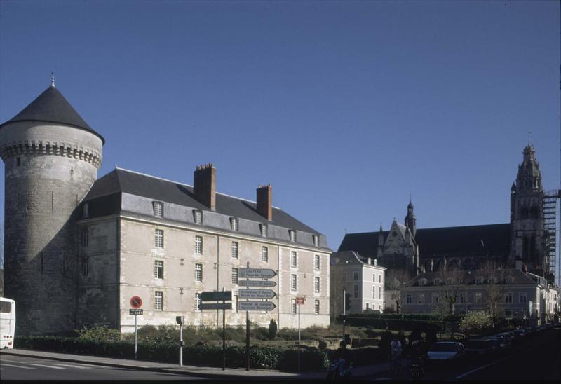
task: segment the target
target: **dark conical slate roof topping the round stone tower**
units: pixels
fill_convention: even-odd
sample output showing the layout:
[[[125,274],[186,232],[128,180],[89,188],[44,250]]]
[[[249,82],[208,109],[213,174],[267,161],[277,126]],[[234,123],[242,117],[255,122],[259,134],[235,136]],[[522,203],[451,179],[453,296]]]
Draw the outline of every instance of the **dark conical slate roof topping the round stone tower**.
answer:
[[[41,95],[33,100],[19,114],[15,115],[11,120],[0,125],[0,129],[9,123],[18,121],[43,121],[47,123],[60,123],[72,125],[75,128],[87,130],[100,137],[103,144],[105,139],[99,133],[95,132],[86,121],[76,112],[76,109],[62,96],[62,93],[50,85]]]

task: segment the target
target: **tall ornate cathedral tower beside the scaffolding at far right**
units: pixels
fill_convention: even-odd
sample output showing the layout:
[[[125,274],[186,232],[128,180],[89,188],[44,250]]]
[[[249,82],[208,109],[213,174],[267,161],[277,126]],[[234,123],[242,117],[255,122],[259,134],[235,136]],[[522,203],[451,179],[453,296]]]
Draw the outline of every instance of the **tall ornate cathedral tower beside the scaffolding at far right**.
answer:
[[[544,248],[543,188],[534,146],[528,143],[522,152],[516,182],[511,187],[511,254],[509,264],[522,259],[528,271],[547,273],[548,261]]]

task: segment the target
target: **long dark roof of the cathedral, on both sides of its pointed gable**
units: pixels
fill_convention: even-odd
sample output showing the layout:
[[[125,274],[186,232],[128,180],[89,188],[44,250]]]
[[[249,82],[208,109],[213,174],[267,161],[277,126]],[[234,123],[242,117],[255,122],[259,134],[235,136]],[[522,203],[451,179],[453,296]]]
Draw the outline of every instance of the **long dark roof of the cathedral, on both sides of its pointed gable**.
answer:
[[[384,231],[384,239],[388,231]],[[379,232],[348,233],[339,251],[377,256]],[[417,229],[415,242],[421,259],[433,256],[486,256],[509,254],[511,224]]]

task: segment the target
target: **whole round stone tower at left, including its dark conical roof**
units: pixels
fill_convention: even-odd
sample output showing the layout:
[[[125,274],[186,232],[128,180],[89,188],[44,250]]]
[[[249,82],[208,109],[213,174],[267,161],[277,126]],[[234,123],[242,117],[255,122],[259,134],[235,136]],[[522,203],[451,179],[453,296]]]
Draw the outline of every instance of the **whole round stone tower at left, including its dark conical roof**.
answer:
[[[75,211],[97,178],[103,144],[54,80],[0,125],[6,165],[4,291],[16,302],[17,334],[75,329]]]

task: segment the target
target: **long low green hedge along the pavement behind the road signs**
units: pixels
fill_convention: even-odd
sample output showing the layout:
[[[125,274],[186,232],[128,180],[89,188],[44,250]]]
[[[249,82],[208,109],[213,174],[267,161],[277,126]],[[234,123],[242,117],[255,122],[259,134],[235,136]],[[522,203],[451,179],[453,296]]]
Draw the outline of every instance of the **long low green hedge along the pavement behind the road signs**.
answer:
[[[56,336],[16,336],[15,348],[48,350],[52,352],[73,353],[81,355],[100,355],[134,359],[135,346],[131,341],[90,341],[80,338]],[[329,366],[329,355],[317,348],[302,347],[300,352],[301,369],[320,370]],[[294,371],[297,369],[297,349],[276,348],[253,345],[250,347],[250,367],[257,369],[278,369]],[[176,363],[179,359],[177,342],[139,341],[138,359]],[[244,367],[246,363],[245,347],[226,348],[226,364],[232,368]],[[188,345],[183,347],[184,364],[204,364],[205,366],[222,366],[222,347],[212,345]]]

